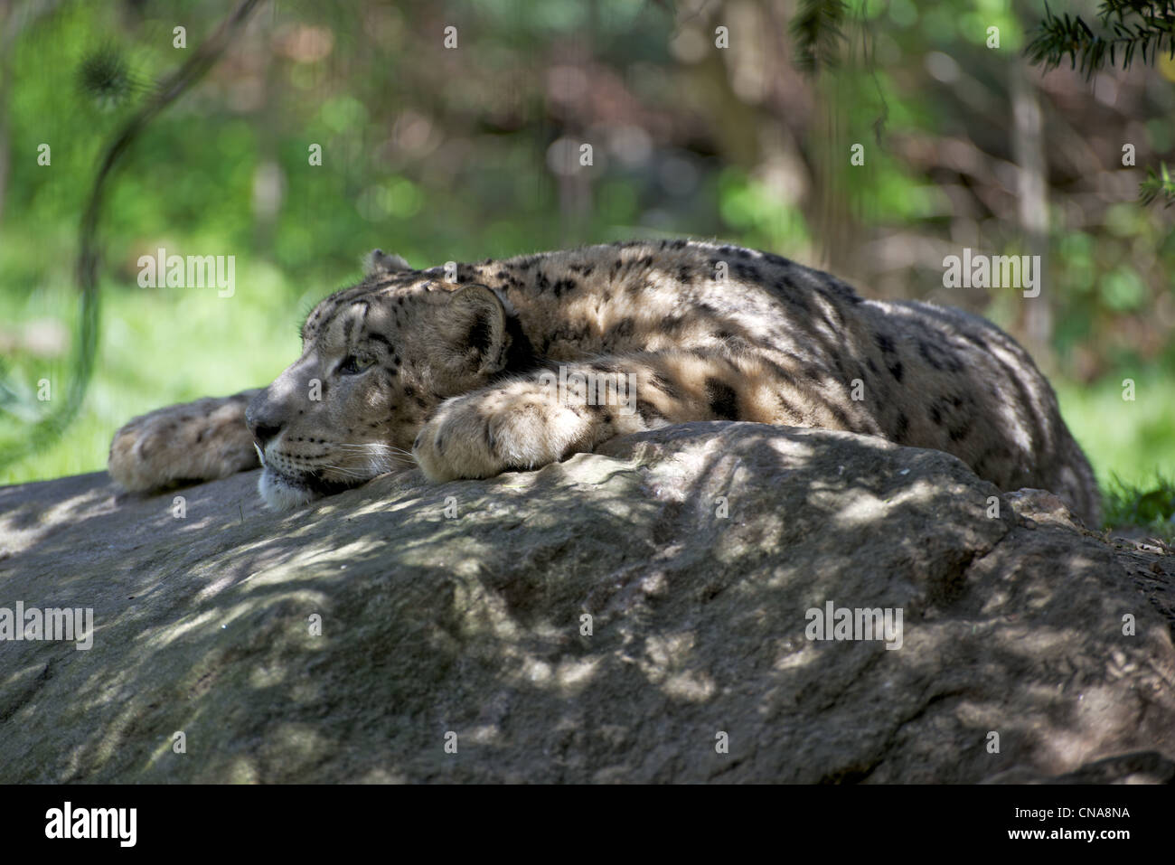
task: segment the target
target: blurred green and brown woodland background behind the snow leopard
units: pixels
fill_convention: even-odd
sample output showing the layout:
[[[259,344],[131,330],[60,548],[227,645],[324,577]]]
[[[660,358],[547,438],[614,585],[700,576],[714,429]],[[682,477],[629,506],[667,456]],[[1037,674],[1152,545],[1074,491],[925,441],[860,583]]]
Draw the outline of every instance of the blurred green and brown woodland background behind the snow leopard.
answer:
[[[234,6],[0,0],[0,443],[76,376],[103,152]],[[1168,519],[1175,208],[1139,185],[1175,156],[1175,61],[1046,73],[1025,56],[1045,6],[1010,0],[855,0],[806,54],[831,6],[261,4],[112,175],[85,401],[0,483],[102,469],[134,415],[266,384],[371,248],[429,267],[692,236],[993,318],[1054,381],[1102,485],[1133,491],[1135,522]],[[160,247],[235,256],[235,294],[141,288]],[[1041,296],[944,288],[965,248],[1041,255]]]

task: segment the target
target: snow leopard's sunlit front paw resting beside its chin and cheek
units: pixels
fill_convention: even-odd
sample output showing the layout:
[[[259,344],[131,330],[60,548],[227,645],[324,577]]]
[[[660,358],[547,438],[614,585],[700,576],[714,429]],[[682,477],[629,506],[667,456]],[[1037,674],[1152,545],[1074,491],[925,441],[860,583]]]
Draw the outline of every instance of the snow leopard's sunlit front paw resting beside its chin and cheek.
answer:
[[[412,455],[424,476],[441,483],[537,469],[591,447],[588,413],[515,382],[442,403],[416,437]]]

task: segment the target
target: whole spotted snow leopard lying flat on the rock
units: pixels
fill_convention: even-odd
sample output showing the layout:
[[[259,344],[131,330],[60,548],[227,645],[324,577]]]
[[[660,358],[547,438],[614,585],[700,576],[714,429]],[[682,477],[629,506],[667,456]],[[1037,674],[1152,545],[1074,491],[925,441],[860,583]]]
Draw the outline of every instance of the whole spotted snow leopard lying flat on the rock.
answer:
[[[262,495],[287,508],[412,464],[490,477],[669,423],[754,421],[945,450],[1100,521],[1048,382],[961,310],[862,300],[781,256],[685,240],[458,264],[454,282],[378,250],[368,268],[314,308],[302,356],[268,388],[136,418],[110,474],[140,490],[220,477],[257,464],[251,438]],[[550,387],[560,371],[636,389],[569,397]]]

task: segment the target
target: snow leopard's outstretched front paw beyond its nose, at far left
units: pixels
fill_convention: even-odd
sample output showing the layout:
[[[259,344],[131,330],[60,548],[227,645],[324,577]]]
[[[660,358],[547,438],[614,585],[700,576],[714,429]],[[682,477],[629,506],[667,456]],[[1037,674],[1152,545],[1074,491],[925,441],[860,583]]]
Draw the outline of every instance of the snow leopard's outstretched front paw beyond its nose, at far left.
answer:
[[[130,491],[212,481],[260,463],[244,409],[256,391],[168,405],[114,434],[107,469]]]

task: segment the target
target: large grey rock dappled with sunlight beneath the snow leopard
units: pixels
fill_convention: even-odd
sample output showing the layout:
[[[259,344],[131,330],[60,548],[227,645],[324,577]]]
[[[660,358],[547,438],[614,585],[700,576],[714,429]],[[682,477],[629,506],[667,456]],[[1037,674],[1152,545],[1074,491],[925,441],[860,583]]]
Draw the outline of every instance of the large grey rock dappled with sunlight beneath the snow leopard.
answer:
[[[255,483],[0,490],[0,606],[95,622],[0,643],[0,782],[1173,775],[1170,623],[1056,499],[946,454],[692,423],[284,515]],[[807,639],[830,602],[900,610],[900,648]]]

